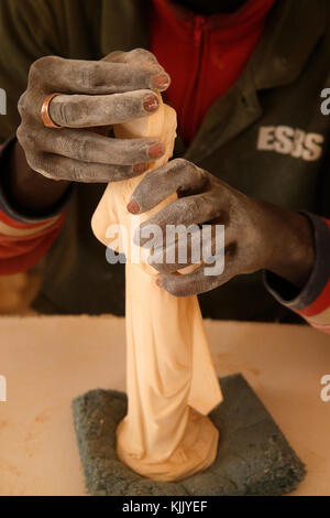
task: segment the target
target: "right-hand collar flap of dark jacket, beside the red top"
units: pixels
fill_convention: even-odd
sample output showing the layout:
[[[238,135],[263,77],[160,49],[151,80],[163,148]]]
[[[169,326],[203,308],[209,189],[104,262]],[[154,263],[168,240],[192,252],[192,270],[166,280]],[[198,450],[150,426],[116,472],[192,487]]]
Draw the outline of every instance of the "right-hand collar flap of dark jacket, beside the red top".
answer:
[[[199,163],[263,115],[258,90],[294,83],[323,35],[326,1],[276,0],[267,25],[237,83],[207,112],[185,157]],[[312,20],[311,20],[312,18]]]

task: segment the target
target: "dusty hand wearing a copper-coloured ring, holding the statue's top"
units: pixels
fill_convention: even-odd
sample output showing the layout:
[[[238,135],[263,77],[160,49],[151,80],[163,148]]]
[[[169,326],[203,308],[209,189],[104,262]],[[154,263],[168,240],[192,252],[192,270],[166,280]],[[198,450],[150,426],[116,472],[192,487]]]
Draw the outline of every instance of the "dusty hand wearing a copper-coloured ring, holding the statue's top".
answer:
[[[158,107],[153,90],[165,90],[169,77],[153,54],[138,48],[114,52],[101,62],[48,56],[30,71],[20,99],[18,139],[29,165],[48,179],[110,182],[135,176],[164,153],[156,139],[119,140],[94,131],[143,117]],[[52,93],[52,120],[44,127],[41,108]]]

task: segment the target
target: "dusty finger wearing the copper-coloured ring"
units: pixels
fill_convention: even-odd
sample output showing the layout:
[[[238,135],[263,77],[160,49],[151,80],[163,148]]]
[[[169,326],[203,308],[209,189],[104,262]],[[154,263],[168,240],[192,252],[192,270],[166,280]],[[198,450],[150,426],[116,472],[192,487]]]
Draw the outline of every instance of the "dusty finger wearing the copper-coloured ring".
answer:
[[[59,95],[50,104],[52,120],[66,128],[112,126],[145,117],[160,107],[151,90],[105,96]]]

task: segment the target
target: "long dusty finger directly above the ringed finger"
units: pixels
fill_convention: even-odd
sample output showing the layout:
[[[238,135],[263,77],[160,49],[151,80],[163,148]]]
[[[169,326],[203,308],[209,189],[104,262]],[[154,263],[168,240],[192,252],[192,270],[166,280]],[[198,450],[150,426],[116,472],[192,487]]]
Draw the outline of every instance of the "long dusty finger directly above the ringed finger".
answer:
[[[46,56],[32,65],[29,83],[31,86],[42,84],[50,93],[105,95],[140,89],[163,91],[170,79],[157,64],[141,67],[139,63],[135,66],[134,63]]]

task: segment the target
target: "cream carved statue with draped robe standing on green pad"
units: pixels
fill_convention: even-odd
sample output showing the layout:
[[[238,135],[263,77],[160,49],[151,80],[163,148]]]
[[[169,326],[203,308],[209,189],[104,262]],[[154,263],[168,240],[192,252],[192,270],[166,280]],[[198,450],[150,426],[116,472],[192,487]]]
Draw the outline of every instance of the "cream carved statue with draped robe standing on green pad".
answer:
[[[166,157],[147,174],[173,154],[176,112],[161,101],[155,114],[116,126],[114,132],[118,138],[152,137],[165,143]],[[155,283],[155,269],[130,260],[132,228],[176,198],[174,194],[143,217],[131,215],[127,205],[141,179],[109,184],[92,218],[97,238],[127,256],[129,407],[118,427],[117,452],[143,476],[178,481],[215,461],[219,434],[207,414],[222,397],[197,296],[170,295]],[[123,225],[129,239],[119,242],[111,225]]]

